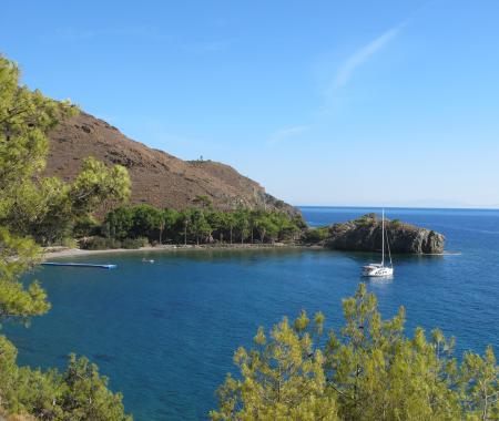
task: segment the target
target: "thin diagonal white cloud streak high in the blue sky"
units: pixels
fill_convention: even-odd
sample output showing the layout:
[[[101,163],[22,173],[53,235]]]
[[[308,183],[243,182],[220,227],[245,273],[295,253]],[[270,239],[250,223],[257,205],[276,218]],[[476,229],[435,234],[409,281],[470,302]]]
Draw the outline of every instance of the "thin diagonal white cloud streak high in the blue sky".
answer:
[[[361,49],[352,54],[339,68],[339,71],[334,79],[333,88],[336,90],[345,86],[350,80],[355,70],[358,66],[363,65],[370,57],[381,50],[394,38],[396,38],[404,25],[405,22],[390,28],[388,31],[369,41]]]

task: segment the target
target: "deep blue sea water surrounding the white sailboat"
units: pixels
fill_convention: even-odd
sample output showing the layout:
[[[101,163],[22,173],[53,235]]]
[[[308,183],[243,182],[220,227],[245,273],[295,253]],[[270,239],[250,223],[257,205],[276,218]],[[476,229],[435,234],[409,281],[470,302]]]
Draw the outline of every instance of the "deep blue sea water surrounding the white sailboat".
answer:
[[[368,208],[304,207],[310,225],[343,222]],[[391,281],[368,281],[384,316],[407,309],[417,325],[457,337],[457,352],[499,350],[499,210],[387,209],[387,217],[447,237],[448,256],[395,257]],[[155,259],[144,264],[142,257]],[[361,280],[368,254],[326,250],[176,251],[101,255],[115,270],[47,267],[38,278],[52,310],[31,327],[6,327],[19,360],[63,367],[85,355],[124,393],[135,420],[197,420],[233,370],[240,345],[283,315],[323,310],[342,325],[342,298]]]

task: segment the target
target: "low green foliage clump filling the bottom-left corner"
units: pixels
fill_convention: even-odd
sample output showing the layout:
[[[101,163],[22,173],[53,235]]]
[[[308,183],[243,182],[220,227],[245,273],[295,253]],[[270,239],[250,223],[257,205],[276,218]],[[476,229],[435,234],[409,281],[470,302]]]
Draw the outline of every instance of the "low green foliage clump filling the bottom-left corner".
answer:
[[[71,355],[68,368],[43,372],[16,364],[17,350],[0,336],[1,404],[11,413],[53,421],[131,421],[122,397],[108,389],[95,364]]]

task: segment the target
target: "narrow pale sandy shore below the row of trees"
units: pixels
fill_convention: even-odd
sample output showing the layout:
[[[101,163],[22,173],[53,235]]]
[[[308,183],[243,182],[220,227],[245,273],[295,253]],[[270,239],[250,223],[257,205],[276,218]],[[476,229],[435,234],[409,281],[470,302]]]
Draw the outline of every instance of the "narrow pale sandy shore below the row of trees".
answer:
[[[155,247],[141,248],[111,248],[105,250],[83,250],[81,248],[48,247],[43,250],[43,258],[47,260],[52,257],[78,257],[92,255],[108,255],[138,251],[179,251],[179,250],[237,250],[237,249],[264,249],[264,248],[314,248],[310,246],[293,244],[215,244],[215,245],[162,245]],[[322,247],[320,247],[322,248]]]

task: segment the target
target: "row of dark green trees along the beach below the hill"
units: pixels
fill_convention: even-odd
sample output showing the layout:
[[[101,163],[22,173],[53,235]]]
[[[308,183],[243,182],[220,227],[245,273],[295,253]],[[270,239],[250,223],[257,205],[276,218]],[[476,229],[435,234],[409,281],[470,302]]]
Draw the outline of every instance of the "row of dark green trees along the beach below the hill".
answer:
[[[306,226],[301,215],[238,208],[217,210],[206,196],[184,210],[151,205],[120,206],[103,222],[86,219],[77,225],[85,248],[134,248],[146,244],[264,244],[294,242]]]

